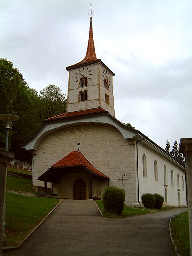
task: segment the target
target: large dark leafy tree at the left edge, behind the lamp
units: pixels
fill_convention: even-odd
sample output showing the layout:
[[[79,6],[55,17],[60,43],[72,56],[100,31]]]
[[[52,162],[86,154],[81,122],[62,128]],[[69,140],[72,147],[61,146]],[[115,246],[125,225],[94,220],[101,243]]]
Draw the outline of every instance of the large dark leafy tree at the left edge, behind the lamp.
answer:
[[[0,58],[0,114],[15,114],[20,118],[13,123],[13,130],[9,133],[8,150],[15,154],[15,158],[22,160],[24,153],[20,145],[32,136],[41,124],[39,104],[37,92],[28,87],[13,63]],[[5,133],[4,122],[0,122],[1,148],[4,148]]]

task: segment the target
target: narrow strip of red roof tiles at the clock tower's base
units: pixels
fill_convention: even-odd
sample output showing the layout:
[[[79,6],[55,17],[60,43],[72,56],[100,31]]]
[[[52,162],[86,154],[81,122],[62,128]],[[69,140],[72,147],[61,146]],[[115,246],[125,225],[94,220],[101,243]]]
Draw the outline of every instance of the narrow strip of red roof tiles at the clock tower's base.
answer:
[[[85,114],[94,114],[97,112],[106,112],[106,110],[104,110],[103,108],[91,108],[91,109],[87,109],[87,110],[80,110],[80,111],[74,111],[74,112],[66,112],[63,114],[60,114],[58,116],[53,116],[51,118],[47,118],[46,121],[51,121],[51,120],[56,120],[58,118],[68,118],[68,117],[72,117],[72,116],[82,116]]]

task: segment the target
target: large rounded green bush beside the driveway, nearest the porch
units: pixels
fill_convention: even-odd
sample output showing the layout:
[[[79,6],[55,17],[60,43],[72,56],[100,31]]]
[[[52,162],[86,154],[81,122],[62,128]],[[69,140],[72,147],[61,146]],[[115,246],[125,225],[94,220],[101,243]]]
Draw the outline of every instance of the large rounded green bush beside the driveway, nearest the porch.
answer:
[[[114,186],[106,188],[102,199],[105,210],[118,215],[122,214],[125,202],[125,191],[122,188]]]

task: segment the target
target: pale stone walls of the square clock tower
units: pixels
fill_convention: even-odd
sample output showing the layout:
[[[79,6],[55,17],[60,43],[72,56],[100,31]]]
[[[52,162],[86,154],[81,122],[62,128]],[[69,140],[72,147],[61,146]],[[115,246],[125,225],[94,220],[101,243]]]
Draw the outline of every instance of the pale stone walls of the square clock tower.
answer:
[[[87,70],[88,69],[88,70]],[[91,70],[89,72],[89,70]],[[102,107],[109,111],[113,116],[114,114],[114,96],[113,96],[113,82],[112,74],[107,71],[109,88],[104,87],[104,78],[106,78],[106,68],[100,64],[91,64],[86,67],[70,70],[69,72],[69,86],[68,86],[68,106],[66,112],[85,110],[90,108]],[[88,77],[88,86],[80,87],[80,75]],[[91,74],[91,76],[90,76]],[[87,91],[87,100],[79,102],[78,95],[84,90]],[[106,103],[105,94],[109,96],[109,104]]]

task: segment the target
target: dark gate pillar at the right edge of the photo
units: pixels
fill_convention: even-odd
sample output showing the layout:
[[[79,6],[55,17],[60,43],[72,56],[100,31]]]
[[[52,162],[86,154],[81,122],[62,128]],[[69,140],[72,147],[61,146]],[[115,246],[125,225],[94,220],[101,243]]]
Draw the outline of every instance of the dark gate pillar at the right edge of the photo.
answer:
[[[186,162],[190,255],[192,256],[192,138],[183,138],[180,140],[179,152],[184,155]]]

